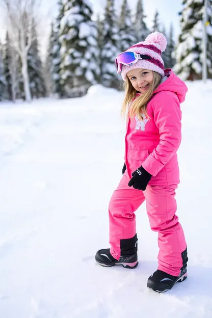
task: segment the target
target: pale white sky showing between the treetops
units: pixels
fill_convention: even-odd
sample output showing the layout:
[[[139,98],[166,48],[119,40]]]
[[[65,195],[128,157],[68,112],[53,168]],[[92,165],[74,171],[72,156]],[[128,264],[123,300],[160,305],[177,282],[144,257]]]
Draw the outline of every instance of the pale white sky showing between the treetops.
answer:
[[[94,14],[103,14],[105,4],[107,0],[90,0],[93,4]],[[138,0],[128,0],[128,4],[135,13]],[[117,13],[120,11],[123,0],[115,0],[115,6]],[[179,16],[178,12],[182,9],[182,0],[174,0],[170,5],[170,0],[143,0],[144,13],[146,14],[146,23],[148,28],[152,27],[152,20],[154,13],[157,10],[159,12],[160,22],[164,23],[169,29],[170,23],[174,25],[174,37],[177,40],[180,28],[179,28]],[[42,6],[39,9],[38,17],[41,23],[40,27],[40,42],[42,43],[42,52],[44,53],[46,47],[46,41],[49,34],[49,25],[51,20],[57,15],[57,3],[58,0],[42,0]],[[4,37],[5,30],[4,19],[0,20],[0,38]]]

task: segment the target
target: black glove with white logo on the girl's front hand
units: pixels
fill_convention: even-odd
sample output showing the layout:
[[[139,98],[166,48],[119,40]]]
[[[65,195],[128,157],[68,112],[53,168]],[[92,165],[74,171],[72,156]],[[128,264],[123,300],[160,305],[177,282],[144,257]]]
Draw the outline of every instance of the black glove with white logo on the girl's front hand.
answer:
[[[146,190],[147,184],[150,181],[152,175],[147,172],[142,166],[138,168],[132,174],[132,178],[129,180],[128,186],[133,186],[134,189]]]

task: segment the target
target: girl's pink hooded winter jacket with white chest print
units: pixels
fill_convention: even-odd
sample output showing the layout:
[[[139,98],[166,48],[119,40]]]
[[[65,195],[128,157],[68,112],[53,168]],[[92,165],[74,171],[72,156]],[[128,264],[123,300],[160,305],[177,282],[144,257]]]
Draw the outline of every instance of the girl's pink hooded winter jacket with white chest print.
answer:
[[[125,163],[129,176],[141,165],[153,177],[149,184],[179,183],[177,150],[181,142],[181,110],[188,88],[171,69],[147,105],[149,119],[127,119]]]

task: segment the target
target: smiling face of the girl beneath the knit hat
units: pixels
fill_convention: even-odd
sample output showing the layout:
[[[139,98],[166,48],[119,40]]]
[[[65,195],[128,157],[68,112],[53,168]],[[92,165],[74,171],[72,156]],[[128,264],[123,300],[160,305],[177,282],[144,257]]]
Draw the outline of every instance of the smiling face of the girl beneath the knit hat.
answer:
[[[149,89],[153,81],[153,72],[143,68],[136,68],[129,71],[127,77],[138,92],[144,93]]]

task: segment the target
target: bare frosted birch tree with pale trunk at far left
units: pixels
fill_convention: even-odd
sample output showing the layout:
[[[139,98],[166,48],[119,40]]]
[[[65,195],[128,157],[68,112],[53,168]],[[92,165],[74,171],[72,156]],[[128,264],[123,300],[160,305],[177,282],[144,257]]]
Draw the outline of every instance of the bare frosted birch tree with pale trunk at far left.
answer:
[[[28,51],[32,44],[32,22],[36,0],[4,0],[12,43],[21,59],[25,100],[31,101]]]

